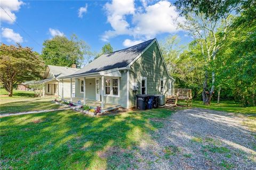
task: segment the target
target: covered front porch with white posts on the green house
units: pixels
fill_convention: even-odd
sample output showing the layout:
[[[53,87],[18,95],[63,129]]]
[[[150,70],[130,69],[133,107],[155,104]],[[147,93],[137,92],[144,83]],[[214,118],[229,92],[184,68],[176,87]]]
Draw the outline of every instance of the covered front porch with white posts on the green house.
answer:
[[[65,96],[65,91],[61,89],[61,99],[78,106],[101,107],[102,111],[119,108],[121,107],[119,103],[120,77],[121,73],[118,70],[111,70],[101,72],[101,74],[64,78],[70,80],[70,82],[75,80],[75,84],[70,83],[69,98]]]

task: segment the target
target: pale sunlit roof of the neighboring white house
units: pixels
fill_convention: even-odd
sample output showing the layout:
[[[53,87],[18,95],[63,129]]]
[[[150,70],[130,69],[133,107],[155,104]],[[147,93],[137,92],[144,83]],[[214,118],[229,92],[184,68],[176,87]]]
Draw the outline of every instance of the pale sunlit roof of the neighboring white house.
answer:
[[[47,67],[49,68],[49,72],[51,72],[51,74],[54,76],[54,78],[68,76],[68,75],[74,74],[76,71],[80,70],[78,68],[51,66],[51,65],[48,65]],[[47,71],[47,69],[46,69],[46,71]]]

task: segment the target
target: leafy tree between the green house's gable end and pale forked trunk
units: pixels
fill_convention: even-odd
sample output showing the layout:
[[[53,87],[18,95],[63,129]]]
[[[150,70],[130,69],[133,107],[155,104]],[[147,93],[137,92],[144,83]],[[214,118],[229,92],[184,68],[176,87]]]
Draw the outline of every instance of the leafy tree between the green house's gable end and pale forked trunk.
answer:
[[[193,98],[197,98],[203,80],[203,58],[200,46],[195,41],[188,48],[179,46],[177,35],[168,36],[160,43],[166,66],[175,79],[175,86],[192,88]]]

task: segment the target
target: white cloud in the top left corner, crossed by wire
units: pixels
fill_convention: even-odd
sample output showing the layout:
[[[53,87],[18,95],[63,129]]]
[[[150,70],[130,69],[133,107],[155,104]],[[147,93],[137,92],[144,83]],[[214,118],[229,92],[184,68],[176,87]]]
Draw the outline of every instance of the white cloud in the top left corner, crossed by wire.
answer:
[[[14,21],[16,21],[17,17],[14,12],[18,12],[22,4],[24,3],[18,0],[1,0],[0,20],[8,23],[13,23]],[[2,7],[4,10],[2,9]],[[10,15],[12,19],[9,17],[9,15],[6,14],[6,12]]]

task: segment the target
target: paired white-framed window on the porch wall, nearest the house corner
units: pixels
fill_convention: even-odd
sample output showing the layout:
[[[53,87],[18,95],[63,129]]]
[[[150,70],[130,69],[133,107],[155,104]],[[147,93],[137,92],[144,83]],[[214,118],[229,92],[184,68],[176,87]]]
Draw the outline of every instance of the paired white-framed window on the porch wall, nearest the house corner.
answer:
[[[105,95],[119,96],[119,78],[105,78]]]

